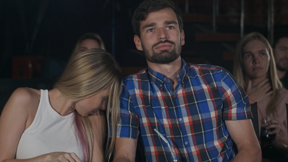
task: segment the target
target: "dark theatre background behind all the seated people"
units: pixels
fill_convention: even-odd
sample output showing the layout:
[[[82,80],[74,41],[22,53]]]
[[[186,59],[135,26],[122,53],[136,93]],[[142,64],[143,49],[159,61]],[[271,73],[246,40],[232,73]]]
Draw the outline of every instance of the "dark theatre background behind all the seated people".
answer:
[[[241,0],[218,0],[214,31],[213,0],[188,0],[188,7],[185,0],[174,1],[184,13],[185,61],[220,65],[232,72],[235,46],[241,37]],[[273,34],[287,34],[288,0],[244,0],[245,34],[257,31],[267,37],[271,33],[267,25],[270,1],[274,4]],[[45,61],[67,61],[77,39],[87,32],[103,38],[106,50],[123,67],[123,75],[144,67],[146,61],[135,48],[131,27],[133,11],[140,2],[0,0],[0,108],[17,87],[51,88],[53,81],[40,77]],[[27,72],[21,66],[25,64],[19,63],[31,58],[37,62],[33,74],[23,76]]]

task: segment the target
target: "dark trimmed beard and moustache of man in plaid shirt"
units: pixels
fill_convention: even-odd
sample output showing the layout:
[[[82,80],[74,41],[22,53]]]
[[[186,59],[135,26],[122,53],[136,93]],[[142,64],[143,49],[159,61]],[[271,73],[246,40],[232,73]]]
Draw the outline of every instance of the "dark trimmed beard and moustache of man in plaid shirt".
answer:
[[[176,46],[174,46],[174,48],[169,51],[169,50],[162,50],[161,52],[157,53],[154,50],[154,47],[156,47],[157,45],[161,44],[161,43],[170,43],[175,45],[175,43],[173,41],[159,41],[158,43],[154,44],[152,46],[152,55],[149,55],[149,51],[143,46],[143,52],[144,55],[147,59],[147,61],[153,62],[153,63],[161,63],[161,64],[165,64],[165,63],[170,63],[175,61],[177,58],[179,58],[180,54],[181,54],[181,45],[178,48],[178,51],[176,51]]]

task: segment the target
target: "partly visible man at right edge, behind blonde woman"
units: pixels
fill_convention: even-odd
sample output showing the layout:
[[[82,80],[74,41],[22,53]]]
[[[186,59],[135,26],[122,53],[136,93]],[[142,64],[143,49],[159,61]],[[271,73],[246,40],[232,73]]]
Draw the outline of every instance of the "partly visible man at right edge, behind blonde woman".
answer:
[[[288,35],[281,36],[274,42],[274,57],[277,67],[277,75],[283,84],[288,88]]]

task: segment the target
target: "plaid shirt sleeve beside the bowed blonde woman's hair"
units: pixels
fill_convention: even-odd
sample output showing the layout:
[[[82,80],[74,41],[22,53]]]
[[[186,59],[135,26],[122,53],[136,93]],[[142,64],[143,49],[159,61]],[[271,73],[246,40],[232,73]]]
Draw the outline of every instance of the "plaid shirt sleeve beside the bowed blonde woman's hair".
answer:
[[[129,90],[123,85],[120,95],[120,120],[117,126],[118,138],[137,139],[139,134],[139,118]]]

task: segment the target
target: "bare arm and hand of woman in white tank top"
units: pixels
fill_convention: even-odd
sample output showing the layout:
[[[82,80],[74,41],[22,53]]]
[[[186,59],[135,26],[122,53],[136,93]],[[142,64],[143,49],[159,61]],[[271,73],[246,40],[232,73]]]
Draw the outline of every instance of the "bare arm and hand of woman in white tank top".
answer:
[[[65,152],[44,154],[25,160],[14,159],[21,135],[33,122],[39,101],[40,91],[31,88],[18,88],[10,96],[0,117],[0,162],[54,162],[56,159],[81,162],[75,153]]]

